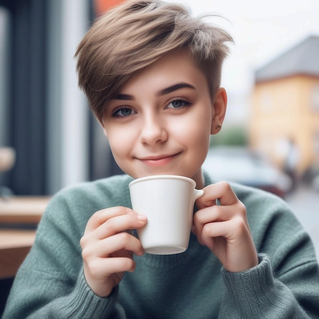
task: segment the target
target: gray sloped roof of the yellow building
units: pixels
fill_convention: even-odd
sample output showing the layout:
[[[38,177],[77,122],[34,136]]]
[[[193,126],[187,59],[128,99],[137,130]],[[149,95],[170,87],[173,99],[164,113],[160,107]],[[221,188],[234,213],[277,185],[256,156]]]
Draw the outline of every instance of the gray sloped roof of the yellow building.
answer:
[[[256,82],[305,74],[319,76],[319,36],[310,36],[255,72]]]

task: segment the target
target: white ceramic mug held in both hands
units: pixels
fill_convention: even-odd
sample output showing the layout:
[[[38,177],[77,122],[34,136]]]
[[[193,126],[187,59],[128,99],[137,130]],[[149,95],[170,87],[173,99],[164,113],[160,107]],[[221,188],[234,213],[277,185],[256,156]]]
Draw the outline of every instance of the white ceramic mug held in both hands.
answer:
[[[155,175],[129,183],[132,208],[147,216],[138,229],[145,252],[171,255],[187,250],[193,223],[195,200],[203,195],[193,179],[176,175]]]

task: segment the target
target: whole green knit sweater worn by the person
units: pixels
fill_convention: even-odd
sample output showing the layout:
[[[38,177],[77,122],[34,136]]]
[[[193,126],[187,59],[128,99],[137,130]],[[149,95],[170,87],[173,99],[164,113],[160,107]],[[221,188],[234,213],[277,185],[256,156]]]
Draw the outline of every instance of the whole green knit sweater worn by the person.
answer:
[[[308,234],[284,201],[236,184],[259,254],[256,267],[225,271],[191,234],[184,253],[135,257],[136,270],[109,297],[96,296],[84,278],[79,240],[95,211],[131,207],[131,180],[120,175],[88,182],[51,200],[4,319],[319,317],[318,263]]]

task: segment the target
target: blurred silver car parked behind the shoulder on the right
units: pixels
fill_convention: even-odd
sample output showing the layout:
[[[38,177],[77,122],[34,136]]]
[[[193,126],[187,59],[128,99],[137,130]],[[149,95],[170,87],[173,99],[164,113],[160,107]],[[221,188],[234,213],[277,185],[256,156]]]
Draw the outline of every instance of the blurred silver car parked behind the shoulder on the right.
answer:
[[[242,147],[212,147],[203,169],[214,182],[233,181],[262,189],[284,198],[290,191],[289,176],[274,167],[259,153]]]

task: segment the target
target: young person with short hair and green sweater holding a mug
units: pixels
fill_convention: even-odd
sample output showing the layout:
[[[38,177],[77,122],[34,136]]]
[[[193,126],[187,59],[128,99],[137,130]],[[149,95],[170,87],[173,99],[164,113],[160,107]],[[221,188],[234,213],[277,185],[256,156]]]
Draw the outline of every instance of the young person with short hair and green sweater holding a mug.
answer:
[[[181,5],[127,2],[79,44],[79,85],[126,173],[59,192],[18,271],[4,318],[306,318],[319,313],[313,245],[288,206],[202,171],[227,104],[224,31]],[[193,178],[189,248],[145,254],[128,183]]]

